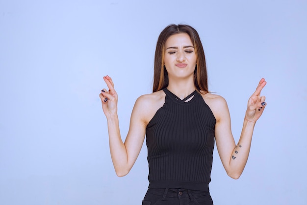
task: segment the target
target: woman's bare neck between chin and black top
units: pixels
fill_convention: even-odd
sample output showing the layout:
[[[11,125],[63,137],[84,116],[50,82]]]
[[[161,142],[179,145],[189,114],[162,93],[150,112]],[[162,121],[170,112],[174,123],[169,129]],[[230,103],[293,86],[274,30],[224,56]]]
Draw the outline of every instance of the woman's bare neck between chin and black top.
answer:
[[[184,99],[195,90],[194,81],[191,79],[172,81],[169,79],[168,90],[173,92],[180,99]]]

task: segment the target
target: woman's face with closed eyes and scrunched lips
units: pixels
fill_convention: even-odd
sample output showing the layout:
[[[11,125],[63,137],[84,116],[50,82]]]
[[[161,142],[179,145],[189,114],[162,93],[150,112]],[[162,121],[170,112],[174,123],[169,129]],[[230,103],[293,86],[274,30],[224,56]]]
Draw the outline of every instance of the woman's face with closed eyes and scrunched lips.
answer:
[[[164,64],[169,80],[189,77],[193,79],[196,54],[191,38],[187,33],[171,35],[165,42],[164,52]]]

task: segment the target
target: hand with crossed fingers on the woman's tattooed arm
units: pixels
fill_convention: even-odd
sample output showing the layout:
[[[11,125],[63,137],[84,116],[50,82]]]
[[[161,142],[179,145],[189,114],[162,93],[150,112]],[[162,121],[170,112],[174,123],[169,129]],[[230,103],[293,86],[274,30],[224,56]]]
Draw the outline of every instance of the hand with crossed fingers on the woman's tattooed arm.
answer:
[[[265,96],[260,96],[262,88],[266,85],[266,81],[262,78],[256,88],[256,91],[252,94],[247,103],[247,111],[245,118],[248,121],[256,122],[262,115],[266,106]]]

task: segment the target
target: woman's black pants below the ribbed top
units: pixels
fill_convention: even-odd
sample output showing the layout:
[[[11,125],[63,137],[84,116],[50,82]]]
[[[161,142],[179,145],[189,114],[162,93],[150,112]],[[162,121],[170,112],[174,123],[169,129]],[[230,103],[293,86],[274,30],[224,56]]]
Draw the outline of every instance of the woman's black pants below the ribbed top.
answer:
[[[213,205],[209,192],[190,189],[148,189],[142,205]]]

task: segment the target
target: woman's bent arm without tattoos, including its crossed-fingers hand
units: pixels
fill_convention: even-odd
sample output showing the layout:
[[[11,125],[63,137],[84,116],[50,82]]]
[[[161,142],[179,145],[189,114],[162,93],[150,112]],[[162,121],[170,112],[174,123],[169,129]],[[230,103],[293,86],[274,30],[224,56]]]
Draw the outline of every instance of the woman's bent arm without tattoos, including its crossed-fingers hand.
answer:
[[[146,106],[142,103],[142,97],[138,98],[132,110],[130,126],[125,143],[123,143],[119,120],[117,116],[118,96],[114,89],[114,84],[109,76],[104,76],[109,91],[103,89],[100,93],[102,100],[102,110],[107,119],[109,145],[111,158],[117,176],[125,176],[131,170],[138,157],[146,133]]]

